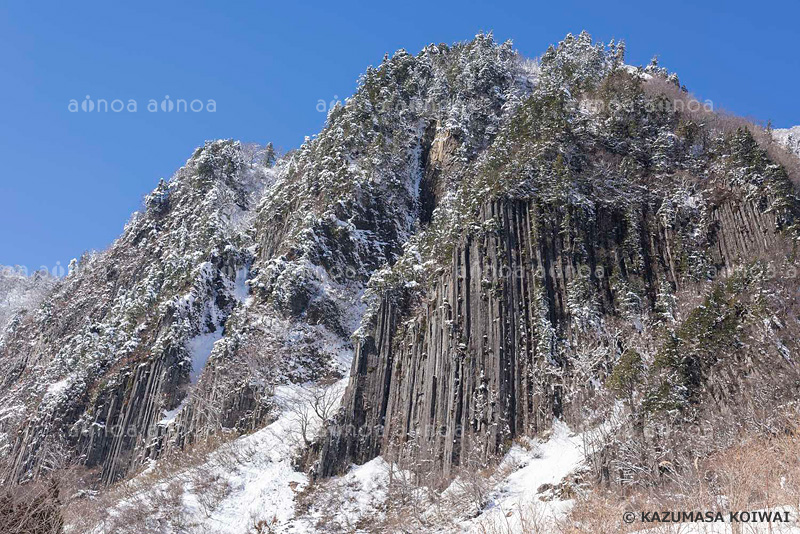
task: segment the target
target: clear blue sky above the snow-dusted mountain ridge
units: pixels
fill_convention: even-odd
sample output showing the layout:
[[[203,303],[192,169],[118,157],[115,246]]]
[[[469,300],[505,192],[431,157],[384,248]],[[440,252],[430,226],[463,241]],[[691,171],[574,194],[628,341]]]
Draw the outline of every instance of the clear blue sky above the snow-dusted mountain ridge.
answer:
[[[319,99],[344,98],[385,52],[481,30],[540,55],[568,32],[624,38],[703,99],[800,124],[800,7],[770,2],[0,3],[0,264],[65,265],[103,249],[142,196],[205,139],[298,146]],[[137,113],[71,113],[70,99]],[[149,99],[215,113],[149,113]]]

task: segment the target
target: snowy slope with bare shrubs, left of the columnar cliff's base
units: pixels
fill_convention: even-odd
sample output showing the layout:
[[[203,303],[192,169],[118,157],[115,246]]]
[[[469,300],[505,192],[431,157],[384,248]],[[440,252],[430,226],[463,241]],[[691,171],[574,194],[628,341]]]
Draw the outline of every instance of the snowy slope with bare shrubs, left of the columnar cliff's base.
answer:
[[[343,387],[339,381],[324,391],[329,412]],[[293,460],[304,445],[302,433],[313,438],[321,429],[314,410],[320,391],[279,387],[274,422],[183,468],[165,467],[169,458],[153,462],[105,496],[112,506],[99,521],[74,517],[67,531],[240,534],[261,524],[269,532],[304,532],[293,522],[295,498],[309,480]]]

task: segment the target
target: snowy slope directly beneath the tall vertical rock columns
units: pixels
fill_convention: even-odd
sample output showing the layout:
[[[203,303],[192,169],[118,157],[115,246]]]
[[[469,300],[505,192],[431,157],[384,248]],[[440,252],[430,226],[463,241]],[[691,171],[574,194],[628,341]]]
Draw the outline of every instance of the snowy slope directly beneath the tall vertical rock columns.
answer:
[[[570,500],[560,497],[558,487],[581,469],[586,437],[557,421],[546,437],[513,445],[492,473],[459,476],[442,492],[416,485],[412,473],[377,457],[321,482],[310,508],[291,523],[290,532],[412,528],[430,533],[526,534],[534,524],[552,526],[572,507]],[[485,494],[485,501],[476,510],[479,494]],[[417,517],[409,523],[404,516],[410,510]]]

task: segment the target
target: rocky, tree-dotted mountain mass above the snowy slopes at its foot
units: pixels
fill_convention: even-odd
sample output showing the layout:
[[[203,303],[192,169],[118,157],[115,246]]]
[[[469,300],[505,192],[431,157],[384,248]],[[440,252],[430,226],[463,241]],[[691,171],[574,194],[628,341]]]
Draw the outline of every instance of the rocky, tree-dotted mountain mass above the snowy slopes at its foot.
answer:
[[[789,257],[800,201],[750,130],[662,105],[687,97],[677,78],[623,49],[401,50],[277,163],[206,143],[0,334],[8,479],[119,481],[262,427],[277,385],[342,376],[353,351],[322,475],[378,454],[452,475],[577,425],[643,332],[655,374],[734,376],[680,368],[657,336],[680,346],[681,298]]]

